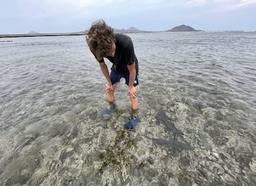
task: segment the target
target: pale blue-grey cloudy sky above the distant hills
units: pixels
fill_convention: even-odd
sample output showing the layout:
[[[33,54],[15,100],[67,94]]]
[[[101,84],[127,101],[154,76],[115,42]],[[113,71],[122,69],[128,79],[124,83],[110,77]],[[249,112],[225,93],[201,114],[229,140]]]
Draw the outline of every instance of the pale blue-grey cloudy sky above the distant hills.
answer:
[[[141,31],[256,30],[256,0],[0,0],[0,34],[79,32],[97,19]]]

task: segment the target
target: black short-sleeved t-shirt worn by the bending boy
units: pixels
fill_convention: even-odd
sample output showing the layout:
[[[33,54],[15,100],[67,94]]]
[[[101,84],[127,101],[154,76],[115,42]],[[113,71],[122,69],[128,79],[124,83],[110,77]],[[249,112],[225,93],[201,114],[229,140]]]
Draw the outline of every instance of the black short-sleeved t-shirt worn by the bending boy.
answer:
[[[114,57],[106,56],[110,62],[113,63],[112,68],[120,74],[129,74],[127,65],[134,64],[136,66],[136,72],[138,72],[138,60],[134,52],[134,45],[132,39],[127,35],[115,34],[116,37],[116,51]],[[103,62],[100,60],[99,62]]]

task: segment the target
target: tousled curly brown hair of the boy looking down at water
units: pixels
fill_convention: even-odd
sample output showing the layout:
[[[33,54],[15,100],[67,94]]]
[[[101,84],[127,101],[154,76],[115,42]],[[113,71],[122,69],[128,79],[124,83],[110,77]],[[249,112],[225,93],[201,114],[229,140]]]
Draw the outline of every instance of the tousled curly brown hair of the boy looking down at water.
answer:
[[[112,50],[112,43],[116,43],[114,30],[102,19],[95,21],[86,33],[86,42],[97,60],[101,60]]]

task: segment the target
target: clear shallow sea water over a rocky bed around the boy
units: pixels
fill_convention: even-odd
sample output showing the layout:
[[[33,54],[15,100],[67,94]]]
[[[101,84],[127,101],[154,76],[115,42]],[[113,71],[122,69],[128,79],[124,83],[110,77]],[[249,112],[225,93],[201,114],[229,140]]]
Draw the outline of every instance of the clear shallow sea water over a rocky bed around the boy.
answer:
[[[256,185],[256,32],[126,35],[134,130],[84,35],[0,39],[0,185]]]

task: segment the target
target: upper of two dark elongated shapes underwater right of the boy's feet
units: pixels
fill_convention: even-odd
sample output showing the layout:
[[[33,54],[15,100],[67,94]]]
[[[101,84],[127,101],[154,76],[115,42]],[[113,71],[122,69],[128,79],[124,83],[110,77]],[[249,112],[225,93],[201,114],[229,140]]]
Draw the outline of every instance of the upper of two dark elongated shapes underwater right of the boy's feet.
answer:
[[[176,126],[174,126],[174,123],[171,121],[171,119],[166,116],[166,112],[164,112],[162,108],[158,110],[157,120],[158,122],[164,124],[164,126],[166,127],[166,130],[168,131],[171,130],[172,132],[174,132],[174,134],[177,134],[179,136],[183,135],[183,133],[180,130],[178,130]]]

